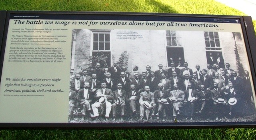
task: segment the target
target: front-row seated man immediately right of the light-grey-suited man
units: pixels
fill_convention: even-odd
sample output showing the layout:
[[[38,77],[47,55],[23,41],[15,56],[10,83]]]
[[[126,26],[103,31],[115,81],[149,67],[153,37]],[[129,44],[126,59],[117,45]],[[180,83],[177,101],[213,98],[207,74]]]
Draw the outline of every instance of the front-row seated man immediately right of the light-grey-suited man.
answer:
[[[166,105],[168,104],[167,102],[166,103],[162,103],[161,102],[161,99],[168,99],[168,93],[163,89],[163,84],[162,83],[159,83],[158,84],[158,90],[154,91],[154,95],[155,95],[155,101],[156,101],[156,106],[158,106],[158,112],[156,113],[156,116],[159,120],[159,116],[163,118],[162,121],[165,121],[166,120],[166,114],[165,114],[165,107]]]

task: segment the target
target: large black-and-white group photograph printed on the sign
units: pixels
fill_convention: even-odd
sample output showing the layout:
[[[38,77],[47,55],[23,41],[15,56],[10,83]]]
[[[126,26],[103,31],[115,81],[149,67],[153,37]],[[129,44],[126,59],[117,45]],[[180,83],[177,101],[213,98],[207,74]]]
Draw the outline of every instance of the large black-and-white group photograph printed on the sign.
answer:
[[[73,29],[68,122],[256,121],[239,32]]]

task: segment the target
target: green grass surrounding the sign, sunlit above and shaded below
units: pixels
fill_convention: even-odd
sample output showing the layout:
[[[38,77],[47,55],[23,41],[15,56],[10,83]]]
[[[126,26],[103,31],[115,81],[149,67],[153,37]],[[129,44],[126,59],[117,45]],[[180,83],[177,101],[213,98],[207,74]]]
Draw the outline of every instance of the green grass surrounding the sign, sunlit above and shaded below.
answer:
[[[245,15],[214,0],[0,0],[0,10],[163,12]],[[256,30],[256,21],[254,30]],[[0,130],[0,140],[254,140],[255,128],[166,130]]]

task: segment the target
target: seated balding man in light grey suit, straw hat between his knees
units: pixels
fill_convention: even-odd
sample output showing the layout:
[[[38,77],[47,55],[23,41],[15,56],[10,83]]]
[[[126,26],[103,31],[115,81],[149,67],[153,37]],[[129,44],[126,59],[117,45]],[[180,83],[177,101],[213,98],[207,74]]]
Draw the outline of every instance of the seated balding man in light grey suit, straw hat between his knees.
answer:
[[[150,92],[150,89],[148,86],[145,86],[144,90],[145,90],[144,92],[140,93],[140,100],[139,100],[140,120],[143,120],[145,110],[149,110],[149,114],[151,114],[151,118],[153,118],[155,115],[155,109],[156,109],[154,93]],[[150,104],[148,108],[145,106],[144,102],[148,102]]]

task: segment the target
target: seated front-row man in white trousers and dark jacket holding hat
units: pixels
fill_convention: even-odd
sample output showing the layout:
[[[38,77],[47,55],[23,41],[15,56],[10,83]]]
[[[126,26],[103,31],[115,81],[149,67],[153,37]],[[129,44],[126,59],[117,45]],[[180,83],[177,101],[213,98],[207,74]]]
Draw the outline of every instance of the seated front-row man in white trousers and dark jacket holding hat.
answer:
[[[106,110],[106,120],[109,118],[109,114],[111,111],[112,101],[113,101],[113,92],[111,89],[106,88],[106,83],[101,83],[101,89],[98,89],[94,95],[94,98],[97,100],[94,104],[92,104],[92,111],[95,117],[99,116],[98,108],[102,107]],[[99,102],[99,99],[103,97],[104,102]]]

